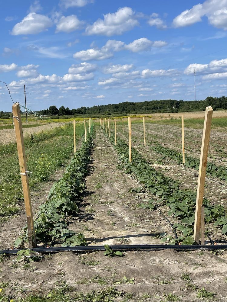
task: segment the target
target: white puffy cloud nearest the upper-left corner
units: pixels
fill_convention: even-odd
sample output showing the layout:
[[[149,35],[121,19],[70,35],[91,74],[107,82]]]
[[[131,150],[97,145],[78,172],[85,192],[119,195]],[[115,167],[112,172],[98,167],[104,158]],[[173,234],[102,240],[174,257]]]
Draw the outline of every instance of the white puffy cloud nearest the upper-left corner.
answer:
[[[14,25],[12,35],[38,34],[51,26],[52,21],[47,16],[33,12]]]

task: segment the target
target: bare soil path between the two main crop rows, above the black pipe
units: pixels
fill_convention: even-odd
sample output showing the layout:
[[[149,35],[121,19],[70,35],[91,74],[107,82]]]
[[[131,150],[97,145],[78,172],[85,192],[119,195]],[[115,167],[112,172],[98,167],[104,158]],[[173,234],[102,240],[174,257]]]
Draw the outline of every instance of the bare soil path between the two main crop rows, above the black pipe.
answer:
[[[160,233],[169,233],[169,225],[158,211],[137,208],[146,193],[129,193],[140,183],[117,169],[113,147],[97,129],[90,175],[86,178],[85,198],[70,229],[84,234],[89,244],[160,244]],[[97,188],[97,184],[102,188]]]

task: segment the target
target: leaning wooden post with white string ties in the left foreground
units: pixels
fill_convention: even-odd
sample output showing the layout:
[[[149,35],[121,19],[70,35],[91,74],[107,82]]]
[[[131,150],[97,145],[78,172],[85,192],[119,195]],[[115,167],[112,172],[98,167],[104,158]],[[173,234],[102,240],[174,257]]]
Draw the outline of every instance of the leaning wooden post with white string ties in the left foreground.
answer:
[[[28,168],[27,168],[27,161],[25,155],[25,145],[24,145],[24,136],[22,130],[22,123],[21,123],[21,111],[20,111],[20,104],[15,103],[12,106],[13,112],[13,122],[14,122],[14,129],[17,141],[17,151],[18,151],[18,159],[20,165],[20,173],[21,173],[21,182],[24,194],[24,201],[25,201],[25,210],[26,215],[31,216],[31,232],[33,234],[33,246],[36,246],[36,237],[35,237],[35,229],[34,229],[34,220],[33,220],[33,213],[32,213],[32,206],[31,206],[31,194],[30,188],[28,183]]]

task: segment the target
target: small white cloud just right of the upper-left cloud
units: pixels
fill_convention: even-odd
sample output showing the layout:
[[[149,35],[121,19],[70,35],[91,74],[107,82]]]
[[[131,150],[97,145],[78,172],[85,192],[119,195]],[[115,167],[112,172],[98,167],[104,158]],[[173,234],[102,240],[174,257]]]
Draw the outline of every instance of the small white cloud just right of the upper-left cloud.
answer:
[[[71,31],[81,28],[83,24],[84,22],[80,21],[76,15],[67,17],[62,16],[56,25],[56,32],[64,31],[66,33],[70,33]]]

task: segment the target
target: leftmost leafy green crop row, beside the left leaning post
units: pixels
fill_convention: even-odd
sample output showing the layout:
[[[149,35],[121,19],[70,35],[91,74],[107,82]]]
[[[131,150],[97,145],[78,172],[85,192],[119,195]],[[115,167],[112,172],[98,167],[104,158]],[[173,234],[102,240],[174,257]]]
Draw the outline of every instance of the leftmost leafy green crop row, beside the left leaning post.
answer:
[[[84,235],[68,229],[67,217],[78,212],[77,200],[84,190],[84,178],[90,162],[94,129],[87,135],[87,141],[72,158],[64,175],[54,183],[48,198],[40,206],[38,218],[34,221],[36,239],[48,245],[61,243],[61,246],[86,245]],[[15,246],[27,240],[27,227],[24,234],[16,239]]]

